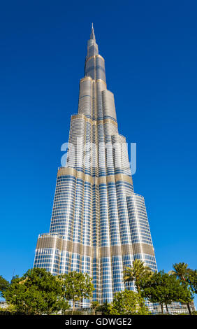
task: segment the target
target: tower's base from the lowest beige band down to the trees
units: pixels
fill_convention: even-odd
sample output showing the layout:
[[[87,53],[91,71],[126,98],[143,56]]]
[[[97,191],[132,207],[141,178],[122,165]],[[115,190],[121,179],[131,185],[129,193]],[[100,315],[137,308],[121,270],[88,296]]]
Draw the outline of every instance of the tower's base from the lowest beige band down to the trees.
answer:
[[[144,253],[131,254],[131,248]],[[117,291],[134,289],[133,283],[124,285],[122,272],[136,258],[156,266],[153,248],[147,244],[94,248],[49,233],[38,237],[34,267],[44,267],[54,275],[71,271],[86,272],[93,278],[93,300],[103,303],[105,300],[112,302]],[[85,300],[82,307],[88,306],[89,302]]]

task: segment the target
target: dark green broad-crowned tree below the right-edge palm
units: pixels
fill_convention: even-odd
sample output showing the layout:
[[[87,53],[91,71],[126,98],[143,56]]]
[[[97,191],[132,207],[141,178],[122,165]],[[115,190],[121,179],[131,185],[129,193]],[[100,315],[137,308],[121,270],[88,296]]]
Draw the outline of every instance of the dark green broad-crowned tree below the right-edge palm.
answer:
[[[191,293],[187,287],[181,284],[175,276],[164,273],[163,271],[155,272],[148,280],[140,281],[140,288],[143,297],[149,302],[159,303],[163,314],[163,304],[166,305],[168,312],[168,304],[172,302],[189,302],[191,301]]]

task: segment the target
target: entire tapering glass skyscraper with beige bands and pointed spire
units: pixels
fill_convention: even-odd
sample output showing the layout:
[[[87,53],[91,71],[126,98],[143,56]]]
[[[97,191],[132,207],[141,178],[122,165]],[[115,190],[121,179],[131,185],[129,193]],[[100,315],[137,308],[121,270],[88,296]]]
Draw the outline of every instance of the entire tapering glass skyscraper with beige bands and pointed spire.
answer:
[[[111,302],[128,284],[134,288],[124,285],[122,271],[135,259],[156,270],[145,200],[133,191],[126,139],[118,132],[92,26],[68,156],[57,172],[50,232],[38,237],[34,267],[54,275],[87,272],[93,299]]]

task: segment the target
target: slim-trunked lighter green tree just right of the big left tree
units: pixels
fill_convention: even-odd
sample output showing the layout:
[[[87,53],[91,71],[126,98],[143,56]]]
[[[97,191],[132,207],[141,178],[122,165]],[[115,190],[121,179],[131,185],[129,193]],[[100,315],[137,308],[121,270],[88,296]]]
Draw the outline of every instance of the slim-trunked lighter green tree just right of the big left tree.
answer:
[[[92,278],[87,273],[82,272],[69,272],[68,274],[61,274],[59,280],[64,285],[64,297],[66,300],[73,302],[73,311],[75,311],[75,303],[82,301],[84,298],[91,298],[94,286]]]

